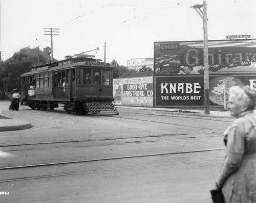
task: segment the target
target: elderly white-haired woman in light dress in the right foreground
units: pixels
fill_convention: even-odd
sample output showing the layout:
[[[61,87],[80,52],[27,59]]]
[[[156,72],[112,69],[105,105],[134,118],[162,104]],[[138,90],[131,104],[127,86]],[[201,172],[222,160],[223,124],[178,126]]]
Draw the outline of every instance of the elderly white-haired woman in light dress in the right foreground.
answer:
[[[256,89],[233,86],[228,100],[237,119],[224,133],[227,154],[216,186],[226,203],[256,203]]]

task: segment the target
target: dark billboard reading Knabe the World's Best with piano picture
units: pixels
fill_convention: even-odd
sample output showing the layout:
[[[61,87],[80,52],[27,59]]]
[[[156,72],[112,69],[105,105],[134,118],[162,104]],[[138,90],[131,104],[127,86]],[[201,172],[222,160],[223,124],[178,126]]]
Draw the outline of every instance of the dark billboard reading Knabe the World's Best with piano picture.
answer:
[[[210,75],[210,106],[225,106],[224,102],[228,102],[229,88],[235,85],[256,88],[256,73]],[[204,106],[203,75],[157,75],[154,90],[155,107]]]

